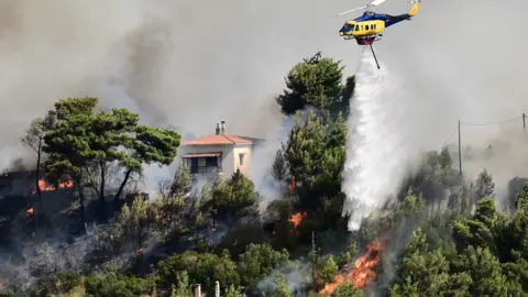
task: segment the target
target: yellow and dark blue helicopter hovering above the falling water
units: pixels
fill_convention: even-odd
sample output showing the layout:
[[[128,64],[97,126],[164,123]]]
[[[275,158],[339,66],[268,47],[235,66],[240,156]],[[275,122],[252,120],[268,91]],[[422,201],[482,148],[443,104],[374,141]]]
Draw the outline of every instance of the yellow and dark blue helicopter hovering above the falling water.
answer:
[[[376,13],[374,12],[374,8],[382,4],[386,0],[373,0],[369,4],[348,10],[344,12],[339,13],[338,15],[341,16],[343,14],[365,9],[363,15],[355,18],[353,20],[349,20],[344,23],[344,25],[339,30],[339,35],[343,36],[344,40],[355,40],[359,45],[369,45],[371,47],[372,54],[374,56],[374,61],[376,62],[377,68],[380,69],[380,63],[377,62],[376,54],[374,53],[374,48],[372,44],[376,41],[380,41],[383,36],[382,32],[392,26],[397,24],[402,21],[410,21],[413,16],[418,13],[418,9],[420,8],[421,0],[411,0],[407,3],[413,4],[410,11],[408,13],[399,14],[399,15],[389,15],[385,13]]]

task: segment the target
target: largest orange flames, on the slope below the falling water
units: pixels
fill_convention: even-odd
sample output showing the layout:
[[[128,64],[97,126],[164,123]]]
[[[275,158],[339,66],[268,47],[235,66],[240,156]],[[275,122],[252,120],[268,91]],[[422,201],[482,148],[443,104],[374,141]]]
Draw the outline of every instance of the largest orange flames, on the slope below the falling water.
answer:
[[[380,255],[383,253],[386,246],[386,241],[376,241],[372,244],[369,244],[366,246],[366,253],[355,261],[354,268],[336,276],[333,284],[327,284],[320,293],[324,296],[328,296],[332,294],[343,282],[353,283],[356,289],[366,287],[377,277],[374,270],[380,263]]]

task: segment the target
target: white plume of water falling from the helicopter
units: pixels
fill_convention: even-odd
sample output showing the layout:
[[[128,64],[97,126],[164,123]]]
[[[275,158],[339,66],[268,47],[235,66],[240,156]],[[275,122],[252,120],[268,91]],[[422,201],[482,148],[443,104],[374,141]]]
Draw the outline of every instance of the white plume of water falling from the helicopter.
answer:
[[[377,69],[366,46],[355,81],[343,170],[343,215],[350,215],[349,230],[358,230],[363,218],[398,190],[408,161],[397,124],[404,117],[397,102],[402,88],[396,88],[383,64]]]

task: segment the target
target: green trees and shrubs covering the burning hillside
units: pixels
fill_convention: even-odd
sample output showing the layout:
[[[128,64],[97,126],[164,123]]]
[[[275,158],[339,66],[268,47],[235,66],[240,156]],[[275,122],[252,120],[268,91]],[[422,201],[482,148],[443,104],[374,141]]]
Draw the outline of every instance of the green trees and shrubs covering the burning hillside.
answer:
[[[394,204],[348,231],[341,172],[354,77],[342,70],[318,53],[287,74],[276,101],[296,122],[271,173],[283,197],[262,213],[261,195],[240,172],[189,195],[182,166],[153,201],[124,199],[143,165],[174,162],[180,135],[127,109],[97,111],[97,98],[58,100],[22,141],[46,183],[69,183],[74,207],[64,216],[82,252],[66,244],[55,263],[36,265],[37,255],[11,250],[10,265],[37,280],[0,279],[0,296],[187,297],[195,284],[212,296],[216,280],[227,297],[528,296],[525,179],[513,179],[510,207],[498,211],[493,177],[483,170],[464,182],[448,148],[425,153]],[[38,177],[35,188],[46,204]],[[57,237],[52,221],[63,215],[33,207],[4,222],[4,249]]]

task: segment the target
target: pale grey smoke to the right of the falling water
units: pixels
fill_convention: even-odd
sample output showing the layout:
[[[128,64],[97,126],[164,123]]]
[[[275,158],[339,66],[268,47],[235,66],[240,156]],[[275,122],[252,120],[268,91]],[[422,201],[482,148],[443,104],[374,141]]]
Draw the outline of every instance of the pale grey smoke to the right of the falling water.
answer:
[[[375,44],[376,54],[391,69],[392,77],[405,81],[402,89],[405,100],[394,110],[408,113],[402,123],[405,129],[399,133],[416,147],[438,150],[444,143],[457,143],[457,121],[461,120],[463,146],[472,145],[477,151],[488,145],[495,147],[493,158],[463,160],[465,178],[474,179],[479,172],[487,168],[497,188],[505,187],[513,176],[528,173],[526,164],[519,162],[526,158],[526,150],[516,148],[526,145],[521,144],[520,116],[527,109],[528,90],[522,81],[528,70],[521,65],[526,64],[522,53],[528,43],[518,40],[517,33],[503,32],[498,25],[482,30],[477,23],[466,20],[470,13],[494,19],[494,23],[524,26],[527,21],[521,18],[521,11],[526,4],[519,0],[510,1],[508,7],[498,0],[486,3],[422,1],[411,22],[389,28]],[[408,10],[408,6],[387,1],[384,7],[384,11],[402,10]],[[452,30],[459,29],[448,25],[446,20],[465,23],[460,29],[462,33],[452,34]],[[515,46],[505,46],[505,40],[518,42]],[[518,120],[490,125],[464,124],[512,118]]]

